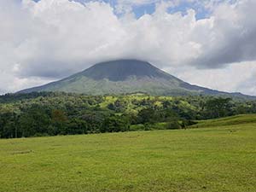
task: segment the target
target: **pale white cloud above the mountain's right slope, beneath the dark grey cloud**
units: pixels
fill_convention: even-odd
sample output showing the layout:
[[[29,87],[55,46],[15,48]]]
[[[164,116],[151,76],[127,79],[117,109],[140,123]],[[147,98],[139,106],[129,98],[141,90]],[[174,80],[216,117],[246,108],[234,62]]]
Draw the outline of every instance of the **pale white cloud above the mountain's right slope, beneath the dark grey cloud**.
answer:
[[[255,95],[256,90],[256,63],[241,62],[225,68],[195,69],[193,67],[166,68],[178,78],[201,85],[213,90],[242,92]]]

